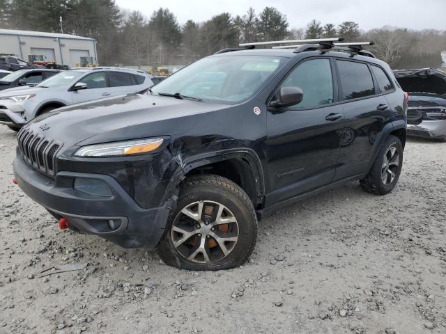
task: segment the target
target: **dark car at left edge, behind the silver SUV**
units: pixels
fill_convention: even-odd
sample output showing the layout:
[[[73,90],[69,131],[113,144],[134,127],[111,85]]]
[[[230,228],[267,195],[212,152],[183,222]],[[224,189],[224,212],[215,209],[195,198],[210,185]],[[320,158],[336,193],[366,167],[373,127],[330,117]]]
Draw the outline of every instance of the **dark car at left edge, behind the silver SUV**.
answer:
[[[34,86],[40,81],[52,77],[59,72],[61,71],[47,70],[45,68],[40,68],[38,70],[18,70],[0,79],[0,90],[18,86]]]

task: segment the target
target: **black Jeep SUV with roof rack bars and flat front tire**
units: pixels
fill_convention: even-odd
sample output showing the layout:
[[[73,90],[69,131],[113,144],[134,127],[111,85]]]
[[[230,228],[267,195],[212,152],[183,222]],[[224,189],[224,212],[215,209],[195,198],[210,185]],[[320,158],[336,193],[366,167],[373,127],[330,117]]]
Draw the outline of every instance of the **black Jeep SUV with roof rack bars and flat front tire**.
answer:
[[[390,67],[366,52],[225,50],[151,94],[36,118],[18,134],[14,172],[62,227],[157,247],[183,269],[227,269],[282,205],[352,180],[391,191],[406,109]]]

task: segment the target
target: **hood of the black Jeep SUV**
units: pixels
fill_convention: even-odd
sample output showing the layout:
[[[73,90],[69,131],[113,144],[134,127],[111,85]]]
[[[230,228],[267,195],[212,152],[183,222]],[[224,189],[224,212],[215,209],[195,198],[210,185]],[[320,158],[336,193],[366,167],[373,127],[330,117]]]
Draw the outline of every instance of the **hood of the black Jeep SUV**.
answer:
[[[174,97],[125,95],[56,109],[26,127],[66,146],[89,145],[187,132],[185,118],[193,124],[190,116],[226,107]]]

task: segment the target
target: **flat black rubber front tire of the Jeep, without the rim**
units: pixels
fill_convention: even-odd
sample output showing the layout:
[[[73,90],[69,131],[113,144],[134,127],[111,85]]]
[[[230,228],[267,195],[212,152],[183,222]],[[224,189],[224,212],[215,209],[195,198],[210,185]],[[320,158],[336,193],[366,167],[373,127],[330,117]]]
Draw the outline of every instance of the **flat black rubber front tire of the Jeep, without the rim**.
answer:
[[[236,186],[236,184],[233,185]],[[240,191],[243,190],[240,189]],[[185,259],[174,247],[170,235],[171,225],[178,212],[187,205],[200,200],[211,200],[224,205],[238,221],[238,241],[235,248],[222,260],[210,264],[201,264]],[[247,204],[246,198],[217,184],[192,184],[187,186],[180,193],[176,209],[169,214],[164,237],[158,246],[160,257],[171,266],[187,270],[222,270],[240,266],[252,253],[257,237],[257,221],[254,208],[252,204]]]

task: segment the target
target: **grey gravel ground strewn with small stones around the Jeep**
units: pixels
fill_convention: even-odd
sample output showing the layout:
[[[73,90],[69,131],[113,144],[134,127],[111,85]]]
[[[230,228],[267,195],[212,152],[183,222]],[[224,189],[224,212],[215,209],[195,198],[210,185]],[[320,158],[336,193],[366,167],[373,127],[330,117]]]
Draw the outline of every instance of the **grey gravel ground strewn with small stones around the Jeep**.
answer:
[[[191,272],[59,230],[11,182],[15,141],[0,128],[0,333],[446,333],[445,143],[410,139],[387,196],[309,198],[243,267]]]

